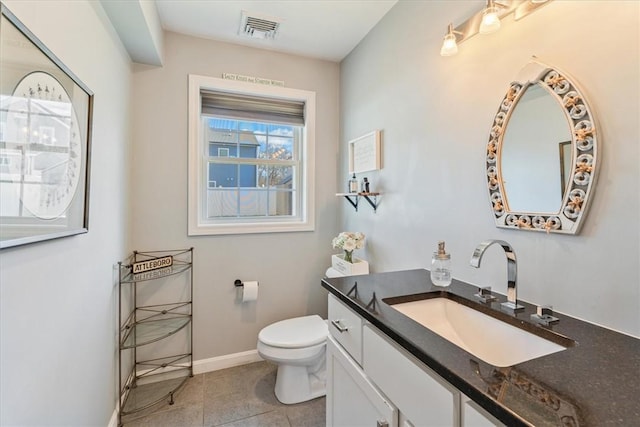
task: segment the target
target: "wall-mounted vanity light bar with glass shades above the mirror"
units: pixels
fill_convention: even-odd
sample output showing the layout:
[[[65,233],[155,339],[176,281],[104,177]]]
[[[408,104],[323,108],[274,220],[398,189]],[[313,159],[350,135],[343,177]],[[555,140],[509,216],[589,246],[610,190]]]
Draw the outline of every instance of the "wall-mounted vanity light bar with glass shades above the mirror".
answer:
[[[500,29],[500,20],[513,13],[516,21],[538,10],[552,0],[487,0],[486,6],[462,24],[453,28],[449,24],[444,36],[441,56],[452,56],[458,52],[458,45],[476,34],[491,34]]]

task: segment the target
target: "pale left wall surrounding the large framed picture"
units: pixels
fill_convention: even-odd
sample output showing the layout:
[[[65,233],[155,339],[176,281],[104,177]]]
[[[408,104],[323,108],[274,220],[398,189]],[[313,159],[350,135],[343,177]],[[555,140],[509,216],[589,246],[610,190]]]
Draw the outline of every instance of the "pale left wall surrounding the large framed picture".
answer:
[[[129,58],[97,2],[5,3],[95,102],[89,233],[0,253],[0,424],[104,426],[117,389],[112,264],[126,254]]]

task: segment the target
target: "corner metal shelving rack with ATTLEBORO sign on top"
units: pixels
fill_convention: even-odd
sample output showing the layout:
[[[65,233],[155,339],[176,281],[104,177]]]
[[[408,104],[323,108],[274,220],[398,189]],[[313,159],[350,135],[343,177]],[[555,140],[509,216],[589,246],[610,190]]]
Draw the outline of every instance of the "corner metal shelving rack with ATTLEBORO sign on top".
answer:
[[[119,426],[126,415],[163,401],[172,405],[174,393],[193,376],[192,266],[193,248],[134,251],[118,262]],[[186,340],[180,351],[164,351],[161,342],[178,334]],[[158,357],[142,357],[142,347]]]

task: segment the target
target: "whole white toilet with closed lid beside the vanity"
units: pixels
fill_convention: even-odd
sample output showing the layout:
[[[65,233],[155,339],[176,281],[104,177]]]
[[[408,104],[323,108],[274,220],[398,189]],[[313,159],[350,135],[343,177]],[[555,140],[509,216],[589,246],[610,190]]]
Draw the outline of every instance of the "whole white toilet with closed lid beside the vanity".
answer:
[[[285,404],[326,394],[327,322],[318,315],[273,323],[258,334],[258,353],[278,365],[275,393]]]

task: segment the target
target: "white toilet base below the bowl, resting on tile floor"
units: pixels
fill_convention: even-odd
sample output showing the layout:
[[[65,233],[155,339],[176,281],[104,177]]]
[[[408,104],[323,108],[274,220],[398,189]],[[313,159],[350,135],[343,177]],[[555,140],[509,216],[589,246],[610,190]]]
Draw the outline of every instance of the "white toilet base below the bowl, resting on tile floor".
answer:
[[[278,401],[291,405],[326,395],[327,382],[324,365],[324,357],[316,366],[278,365],[275,387]]]

